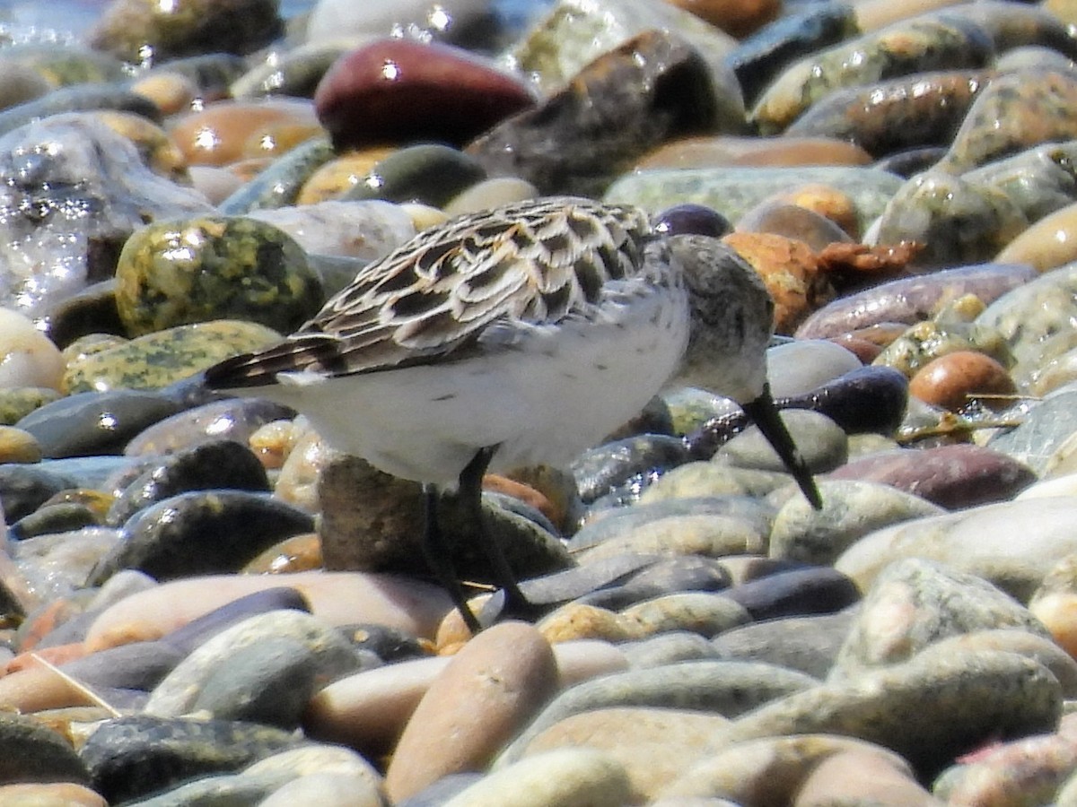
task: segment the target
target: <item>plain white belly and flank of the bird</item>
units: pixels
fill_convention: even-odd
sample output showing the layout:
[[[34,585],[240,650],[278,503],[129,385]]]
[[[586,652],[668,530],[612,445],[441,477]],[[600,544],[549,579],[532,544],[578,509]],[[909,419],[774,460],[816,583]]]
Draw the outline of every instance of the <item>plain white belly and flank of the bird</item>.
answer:
[[[265,397],[306,414],[340,451],[405,479],[454,484],[486,447],[491,469],[564,466],[635,415],[676,369],[680,288],[599,320],[526,327],[481,357],[338,378],[281,378]],[[263,394],[263,391],[258,391]]]

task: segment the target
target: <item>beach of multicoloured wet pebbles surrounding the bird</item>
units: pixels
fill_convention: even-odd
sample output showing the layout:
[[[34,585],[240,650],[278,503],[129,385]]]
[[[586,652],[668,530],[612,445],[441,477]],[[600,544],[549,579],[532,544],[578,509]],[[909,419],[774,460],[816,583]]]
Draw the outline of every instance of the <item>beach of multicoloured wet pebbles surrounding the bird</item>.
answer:
[[[0,807],[1077,807],[1075,59],[1073,0],[0,0]],[[440,497],[473,636],[418,483],[199,374],[556,195],[718,213],[823,507],[676,377],[486,477],[533,623]]]

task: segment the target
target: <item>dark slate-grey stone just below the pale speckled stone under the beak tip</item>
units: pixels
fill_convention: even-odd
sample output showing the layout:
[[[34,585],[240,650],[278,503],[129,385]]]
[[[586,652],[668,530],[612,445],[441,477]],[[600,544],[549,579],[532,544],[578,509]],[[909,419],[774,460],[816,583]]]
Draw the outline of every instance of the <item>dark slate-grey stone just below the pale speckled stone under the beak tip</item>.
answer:
[[[856,603],[861,593],[845,575],[820,566],[777,571],[735,585],[722,596],[738,604],[753,620],[768,620],[840,611]]]

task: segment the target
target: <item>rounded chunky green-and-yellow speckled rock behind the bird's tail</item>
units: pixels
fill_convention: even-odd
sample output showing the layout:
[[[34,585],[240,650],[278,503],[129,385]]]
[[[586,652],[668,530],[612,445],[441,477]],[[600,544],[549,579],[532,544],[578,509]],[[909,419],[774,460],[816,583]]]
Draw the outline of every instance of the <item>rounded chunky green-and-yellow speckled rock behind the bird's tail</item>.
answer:
[[[252,218],[152,224],[128,239],[116,266],[116,307],[131,336],[226,318],[291,332],[323,301],[299,245]]]

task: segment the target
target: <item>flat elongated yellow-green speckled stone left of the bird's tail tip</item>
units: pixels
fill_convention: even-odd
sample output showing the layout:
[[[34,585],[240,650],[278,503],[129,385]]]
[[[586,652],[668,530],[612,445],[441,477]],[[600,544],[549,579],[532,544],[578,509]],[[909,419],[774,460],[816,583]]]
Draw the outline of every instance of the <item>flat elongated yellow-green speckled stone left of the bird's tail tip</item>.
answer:
[[[83,353],[68,363],[70,393],[160,390],[237,353],[280,339],[277,331],[249,322],[222,320],[168,328],[106,350]]]

